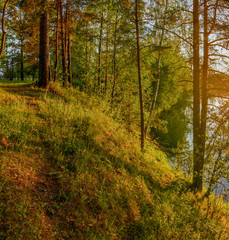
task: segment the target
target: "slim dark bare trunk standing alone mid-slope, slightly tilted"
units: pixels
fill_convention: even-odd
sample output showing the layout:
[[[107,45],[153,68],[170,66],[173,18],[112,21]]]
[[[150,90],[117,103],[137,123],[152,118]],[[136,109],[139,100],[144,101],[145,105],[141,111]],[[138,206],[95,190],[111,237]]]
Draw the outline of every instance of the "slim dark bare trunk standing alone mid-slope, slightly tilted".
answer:
[[[138,0],[135,0],[135,24],[136,24],[136,38],[137,38],[137,62],[138,62],[138,83],[139,83],[139,100],[140,100],[140,113],[141,113],[141,149],[145,145],[145,129],[144,129],[144,105],[143,105],[143,90],[141,79],[141,54],[140,54],[140,40],[139,40],[139,19],[138,19]]]

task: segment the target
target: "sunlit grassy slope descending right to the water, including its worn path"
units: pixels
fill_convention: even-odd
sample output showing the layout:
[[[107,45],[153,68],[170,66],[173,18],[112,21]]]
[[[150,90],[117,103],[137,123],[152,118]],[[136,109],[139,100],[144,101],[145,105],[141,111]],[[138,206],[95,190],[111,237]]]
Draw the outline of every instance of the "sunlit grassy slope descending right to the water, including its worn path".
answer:
[[[0,85],[0,239],[228,239],[152,143],[83,93]]]

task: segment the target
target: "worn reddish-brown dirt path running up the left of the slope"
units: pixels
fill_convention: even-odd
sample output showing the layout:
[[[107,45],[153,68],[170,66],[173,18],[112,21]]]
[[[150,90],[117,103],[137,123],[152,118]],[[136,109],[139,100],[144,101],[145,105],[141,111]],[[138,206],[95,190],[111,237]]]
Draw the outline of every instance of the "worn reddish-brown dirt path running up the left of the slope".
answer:
[[[38,123],[38,133],[41,128],[49,127],[40,114],[39,103],[42,100],[38,95],[42,92],[26,85],[12,85],[12,87],[0,85],[0,88],[9,93],[8,101],[16,97],[17,100],[23,100],[26,103],[28,115],[35,116]],[[3,177],[15,187],[18,195],[26,196],[29,201],[27,214],[33,218],[32,211],[36,209],[39,212],[39,220],[36,224],[41,231],[40,239],[57,239],[53,232],[57,228],[58,216],[55,215],[53,206],[61,187],[55,175],[58,169],[53,168],[51,159],[43,157],[43,153],[48,151],[43,141],[44,139],[38,134],[37,138],[32,139],[32,143],[23,146],[23,150],[15,150],[14,143],[1,137],[3,150],[1,151],[0,148],[0,156],[5,159],[4,171],[1,174],[4,174]],[[31,236],[31,239],[34,238]]]

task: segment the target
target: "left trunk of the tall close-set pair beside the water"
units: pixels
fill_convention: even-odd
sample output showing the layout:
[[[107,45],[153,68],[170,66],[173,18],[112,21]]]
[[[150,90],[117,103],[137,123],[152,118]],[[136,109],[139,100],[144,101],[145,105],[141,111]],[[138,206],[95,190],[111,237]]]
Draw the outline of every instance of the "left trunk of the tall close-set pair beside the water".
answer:
[[[199,0],[193,0],[193,188],[202,191],[202,160],[200,157],[200,54]]]

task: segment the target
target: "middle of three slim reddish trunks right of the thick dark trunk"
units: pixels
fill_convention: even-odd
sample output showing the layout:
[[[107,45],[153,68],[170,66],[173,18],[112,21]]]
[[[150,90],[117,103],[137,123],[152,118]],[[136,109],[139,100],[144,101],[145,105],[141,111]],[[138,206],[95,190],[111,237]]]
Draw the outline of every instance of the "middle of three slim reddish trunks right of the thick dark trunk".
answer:
[[[60,0],[60,25],[61,25],[61,55],[62,55],[62,70],[63,70],[63,85],[67,85],[67,63],[66,63],[66,49],[64,40],[64,19],[63,19],[63,2]]]

